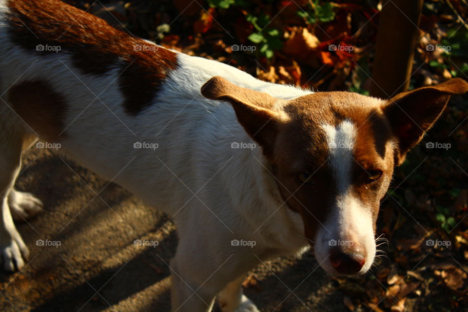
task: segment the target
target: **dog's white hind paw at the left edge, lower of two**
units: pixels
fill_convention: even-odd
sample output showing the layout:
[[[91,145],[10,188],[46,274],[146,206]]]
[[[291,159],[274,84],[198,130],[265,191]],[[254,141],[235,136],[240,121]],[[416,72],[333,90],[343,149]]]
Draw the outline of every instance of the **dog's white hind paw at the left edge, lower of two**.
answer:
[[[0,262],[3,264],[3,269],[10,272],[21,270],[24,267],[24,260],[29,257],[29,250],[18,232],[12,235],[7,232],[4,234],[0,234],[4,241],[0,243]],[[6,239],[6,237],[11,238]]]

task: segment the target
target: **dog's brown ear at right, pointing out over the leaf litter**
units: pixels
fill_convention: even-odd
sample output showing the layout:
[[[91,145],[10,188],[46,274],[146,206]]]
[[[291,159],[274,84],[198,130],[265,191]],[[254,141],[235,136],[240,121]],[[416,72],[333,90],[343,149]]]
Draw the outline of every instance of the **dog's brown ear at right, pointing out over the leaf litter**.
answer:
[[[416,145],[442,114],[450,95],[468,92],[468,83],[454,78],[447,82],[403,92],[385,104],[383,111],[399,141],[395,165]]]

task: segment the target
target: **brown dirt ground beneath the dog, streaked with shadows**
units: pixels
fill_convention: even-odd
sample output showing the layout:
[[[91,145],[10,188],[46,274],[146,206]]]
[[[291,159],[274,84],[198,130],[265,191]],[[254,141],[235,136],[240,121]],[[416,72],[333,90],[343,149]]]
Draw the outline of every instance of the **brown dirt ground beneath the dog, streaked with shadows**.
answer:
[[[27,152],[22,170],[17,189],[37,195],[44,211],[17,225],[31,257],[20,273],[0,273],[0,311],[170,311],[177,237],[167,215],[49,150]],[[347,311],[338,283],[317,267],[310,254],[267,262],[245,293],[262,312]]]

